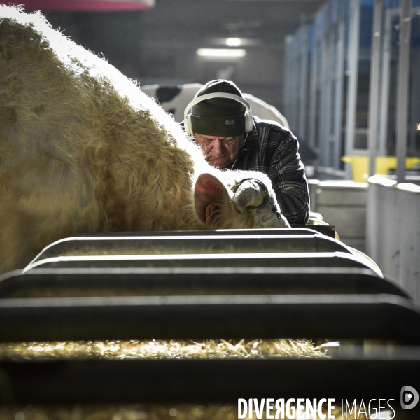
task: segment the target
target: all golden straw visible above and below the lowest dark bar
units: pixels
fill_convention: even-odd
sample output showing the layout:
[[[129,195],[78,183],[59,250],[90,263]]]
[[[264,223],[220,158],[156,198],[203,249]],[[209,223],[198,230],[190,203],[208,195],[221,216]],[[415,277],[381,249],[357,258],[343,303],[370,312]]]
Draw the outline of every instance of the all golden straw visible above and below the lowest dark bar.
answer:
[[[25,342],[0,344],[0,360],[35,358],[329,358],[326,349],[305,339],[253,340],[149,340],[108,342]],[[366,420],[341,414],[339,402],[335,419]],[[326,407],[325,407],[326,409]],[[235,404],[221,405],[73,405],[0,407],[0,420],[237,420]],[[358,412],[358,408],[356,409]],[[325,412],[326,413],[326,410]],[[405,419],[397,413],[395,420]],[[248,416],[246,417],[248,419]],[[256,419],[254,412],[253,419]],[[265,414],[262,419],[266,419]],[[318,418],[317,418],[318,419]]]

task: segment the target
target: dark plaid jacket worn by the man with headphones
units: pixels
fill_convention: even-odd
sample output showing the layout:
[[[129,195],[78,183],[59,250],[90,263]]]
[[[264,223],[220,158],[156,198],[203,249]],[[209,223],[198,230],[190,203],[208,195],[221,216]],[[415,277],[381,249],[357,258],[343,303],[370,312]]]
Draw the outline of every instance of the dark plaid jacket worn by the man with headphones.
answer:
[[[267,174],[281,213],[290,224],[304,225],[309,218],[309,190],[300,162],[299,142],[285,127],[253,117],[254,129],[237,160],[225,169],[245,169]]]

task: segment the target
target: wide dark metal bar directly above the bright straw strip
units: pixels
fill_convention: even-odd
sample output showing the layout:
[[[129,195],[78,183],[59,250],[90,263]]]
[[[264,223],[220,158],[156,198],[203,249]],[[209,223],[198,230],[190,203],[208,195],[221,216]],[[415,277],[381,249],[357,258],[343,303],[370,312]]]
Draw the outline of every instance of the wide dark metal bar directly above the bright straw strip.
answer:
[[[395,295],[0,300],[0,341],[323,337],[420,344],[420,311]]]

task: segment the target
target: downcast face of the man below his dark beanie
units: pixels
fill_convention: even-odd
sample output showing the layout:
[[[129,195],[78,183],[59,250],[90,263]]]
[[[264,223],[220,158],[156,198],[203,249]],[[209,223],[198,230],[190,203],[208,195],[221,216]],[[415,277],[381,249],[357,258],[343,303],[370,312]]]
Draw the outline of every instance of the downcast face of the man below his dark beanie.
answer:
[[[194,136],[195,143],[203,149],[207,162],[220,168],[235,162],[244,144],[244,134],[237,137],[217,137],[195,133]]]

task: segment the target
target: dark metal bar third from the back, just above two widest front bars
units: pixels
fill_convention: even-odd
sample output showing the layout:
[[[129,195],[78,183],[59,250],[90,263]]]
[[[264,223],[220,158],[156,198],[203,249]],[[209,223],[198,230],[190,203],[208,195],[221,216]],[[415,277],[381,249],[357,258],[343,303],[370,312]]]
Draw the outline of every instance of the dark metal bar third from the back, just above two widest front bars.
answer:
[[[367,269],[33,269],[0,279],[0,297],[255,294],[374,294],[409,297]]]

